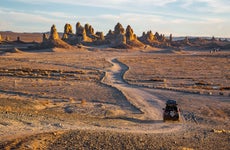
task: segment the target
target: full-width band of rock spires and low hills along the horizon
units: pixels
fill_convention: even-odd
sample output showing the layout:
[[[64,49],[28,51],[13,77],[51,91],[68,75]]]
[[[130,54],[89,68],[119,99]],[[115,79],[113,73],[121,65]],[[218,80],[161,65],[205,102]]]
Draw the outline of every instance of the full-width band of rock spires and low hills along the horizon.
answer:
[[[61,37],[61,38],[60,38]],[[71,24],[66,23],[64,32],[58,33],[55,25],[51,27],[50,32],[46,33],[14,33],[0,32],[0,43],[9,42],[39,42],[36,48],[71,48],[78,44],[85,46],[103,46],[119,49],[132,48],[179,48],[179,47],[200,47],[201,49],[223,48],[228,49],[229,41],[212,38],[191,38],[183,37],[180,40],[174,40],[172,34],[165,36],[150,30],[137,36],[133,28],[128,25],[126,29],[121,23],[117,23],[113,30],[109,30],[104,36],[101,31],[94,30],[93,26],[86,23],[81,25],[77,22],[75,32]]]

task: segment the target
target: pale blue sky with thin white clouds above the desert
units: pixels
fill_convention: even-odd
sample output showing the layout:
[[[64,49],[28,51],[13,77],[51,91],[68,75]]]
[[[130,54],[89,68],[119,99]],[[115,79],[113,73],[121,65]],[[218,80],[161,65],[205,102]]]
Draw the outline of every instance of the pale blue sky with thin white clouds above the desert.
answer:
[[[168,36],[230,38],[229,0],[1,0],[0,31],[47,32],[55,24],[89,23],[106,35],[120,22],[141,36],[151,30]]]

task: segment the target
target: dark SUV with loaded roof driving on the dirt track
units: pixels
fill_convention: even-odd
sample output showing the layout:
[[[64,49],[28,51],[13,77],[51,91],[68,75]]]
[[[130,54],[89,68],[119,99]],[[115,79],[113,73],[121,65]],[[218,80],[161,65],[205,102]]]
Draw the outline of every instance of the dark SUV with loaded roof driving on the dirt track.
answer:
[[[163,108],[163,120],[179,121],[179,109],[175,100],[167,100],[166,107]]]

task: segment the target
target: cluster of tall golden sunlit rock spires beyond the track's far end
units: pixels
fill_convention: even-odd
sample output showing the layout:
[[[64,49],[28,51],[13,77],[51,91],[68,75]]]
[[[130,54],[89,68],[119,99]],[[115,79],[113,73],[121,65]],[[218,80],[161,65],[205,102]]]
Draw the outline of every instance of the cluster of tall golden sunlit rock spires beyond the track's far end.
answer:
[[[172,34],[170,34],[169,39],[166,39],[163,34],[156,32],[154,35],[152,31],[148,31],[147,33],[143,32],[142,36],[137,38],[134,30],[130,25],[124,29],[120,23],[115,25],[114,31],[109,30],[106,36],[104,36],[103,32],[95,33],[94,28],[88,23],[82,26],[80,22],[76,23],[76,33],[74,34],[72,26],[67,23],[64,26],[64,34],[62,35],[62,40],[59,39],[55,25],[51,27],[50,36],[48,39],[46,35],[43,34],[43,43],[51,42],[54,46],[57,47],[63,47],[63,45],[67,43],[71,45],[83,44],[88,46],[104,44],[114,48],[144,47],[144,44],[154,47],[165,47],[173,45]],[[64,41],[67,43],[64,44]]]

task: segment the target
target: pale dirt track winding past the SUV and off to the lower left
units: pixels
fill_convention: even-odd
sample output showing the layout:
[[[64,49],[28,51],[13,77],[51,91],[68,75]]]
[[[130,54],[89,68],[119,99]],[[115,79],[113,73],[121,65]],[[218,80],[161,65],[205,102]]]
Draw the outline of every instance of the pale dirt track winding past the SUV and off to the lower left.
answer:
[[[72,123],[71,121],[68,121],[68,118],[66,118],[66,121],[65,119],[63,121],[60,121],[59,119],[51,119],[50,117],[48,117],[47,121],[50,121],[50,124],[45,131],[35,126],[33,127],[32,135],[30,135],[31,133],[29,134],[29,132],[25,130],[26,128],[22,126],[22,130],[16,132],[18,138],[12,140],[13,143],[6,143],[3,144],[3,146],[7,146],[9,149],[15,147],[28,148],[28,146],[32,146],[33,148],[41,148],[47,143],[52,143],[55,139],[58,138],[56,137],[56,135],[53,136],[53,133],[56,134],[56,132],[59,132],[59,136],[61,136],[65,132],[73,130],[87,130],[89,132],[93,130],[98,132],[114,131],[118,133],[172,133],[181,131],[181,129],[185,127],[183,122],[164,123],[162,119],[162,108],[164,106],[164,99],[159,99],[156,95],[151,94],[151,92],[149,92],[150,89],[133,86],[126,83],[123,79],[123,75],[128,70],[128,67],[115,58],[109,59],[108,61],[113,64],[113,66],[108,71],[106,71],[105,77],[103,78],[102,82],[121,91],[127,97],[128,101],[133,105],[132,107],[133,109],[135,109],[134,112],[139,110],[142,113],[131,114],[131,116],[111,118],[113,121],[111,121],[110,123],[110,120],[107,120],[110,125],[106,126],[95,126],[93,124],[81,122],[76,123],[76,121]],[[43,116],[40,117],[41,120],[44,119]],[[126,122],[122,124],[123,120],[125,120]],[[57,128],[52,126],[54,125],[54,123],[57,124],[57,122],[60,122],[63,127]],[[35,124],[34,121],[31,121],[31,123]],[[29,135],[23,137],[22,133]],[[50,134],[52,136],[50,136]],[[41,137],[38,138],[38,135]]]

